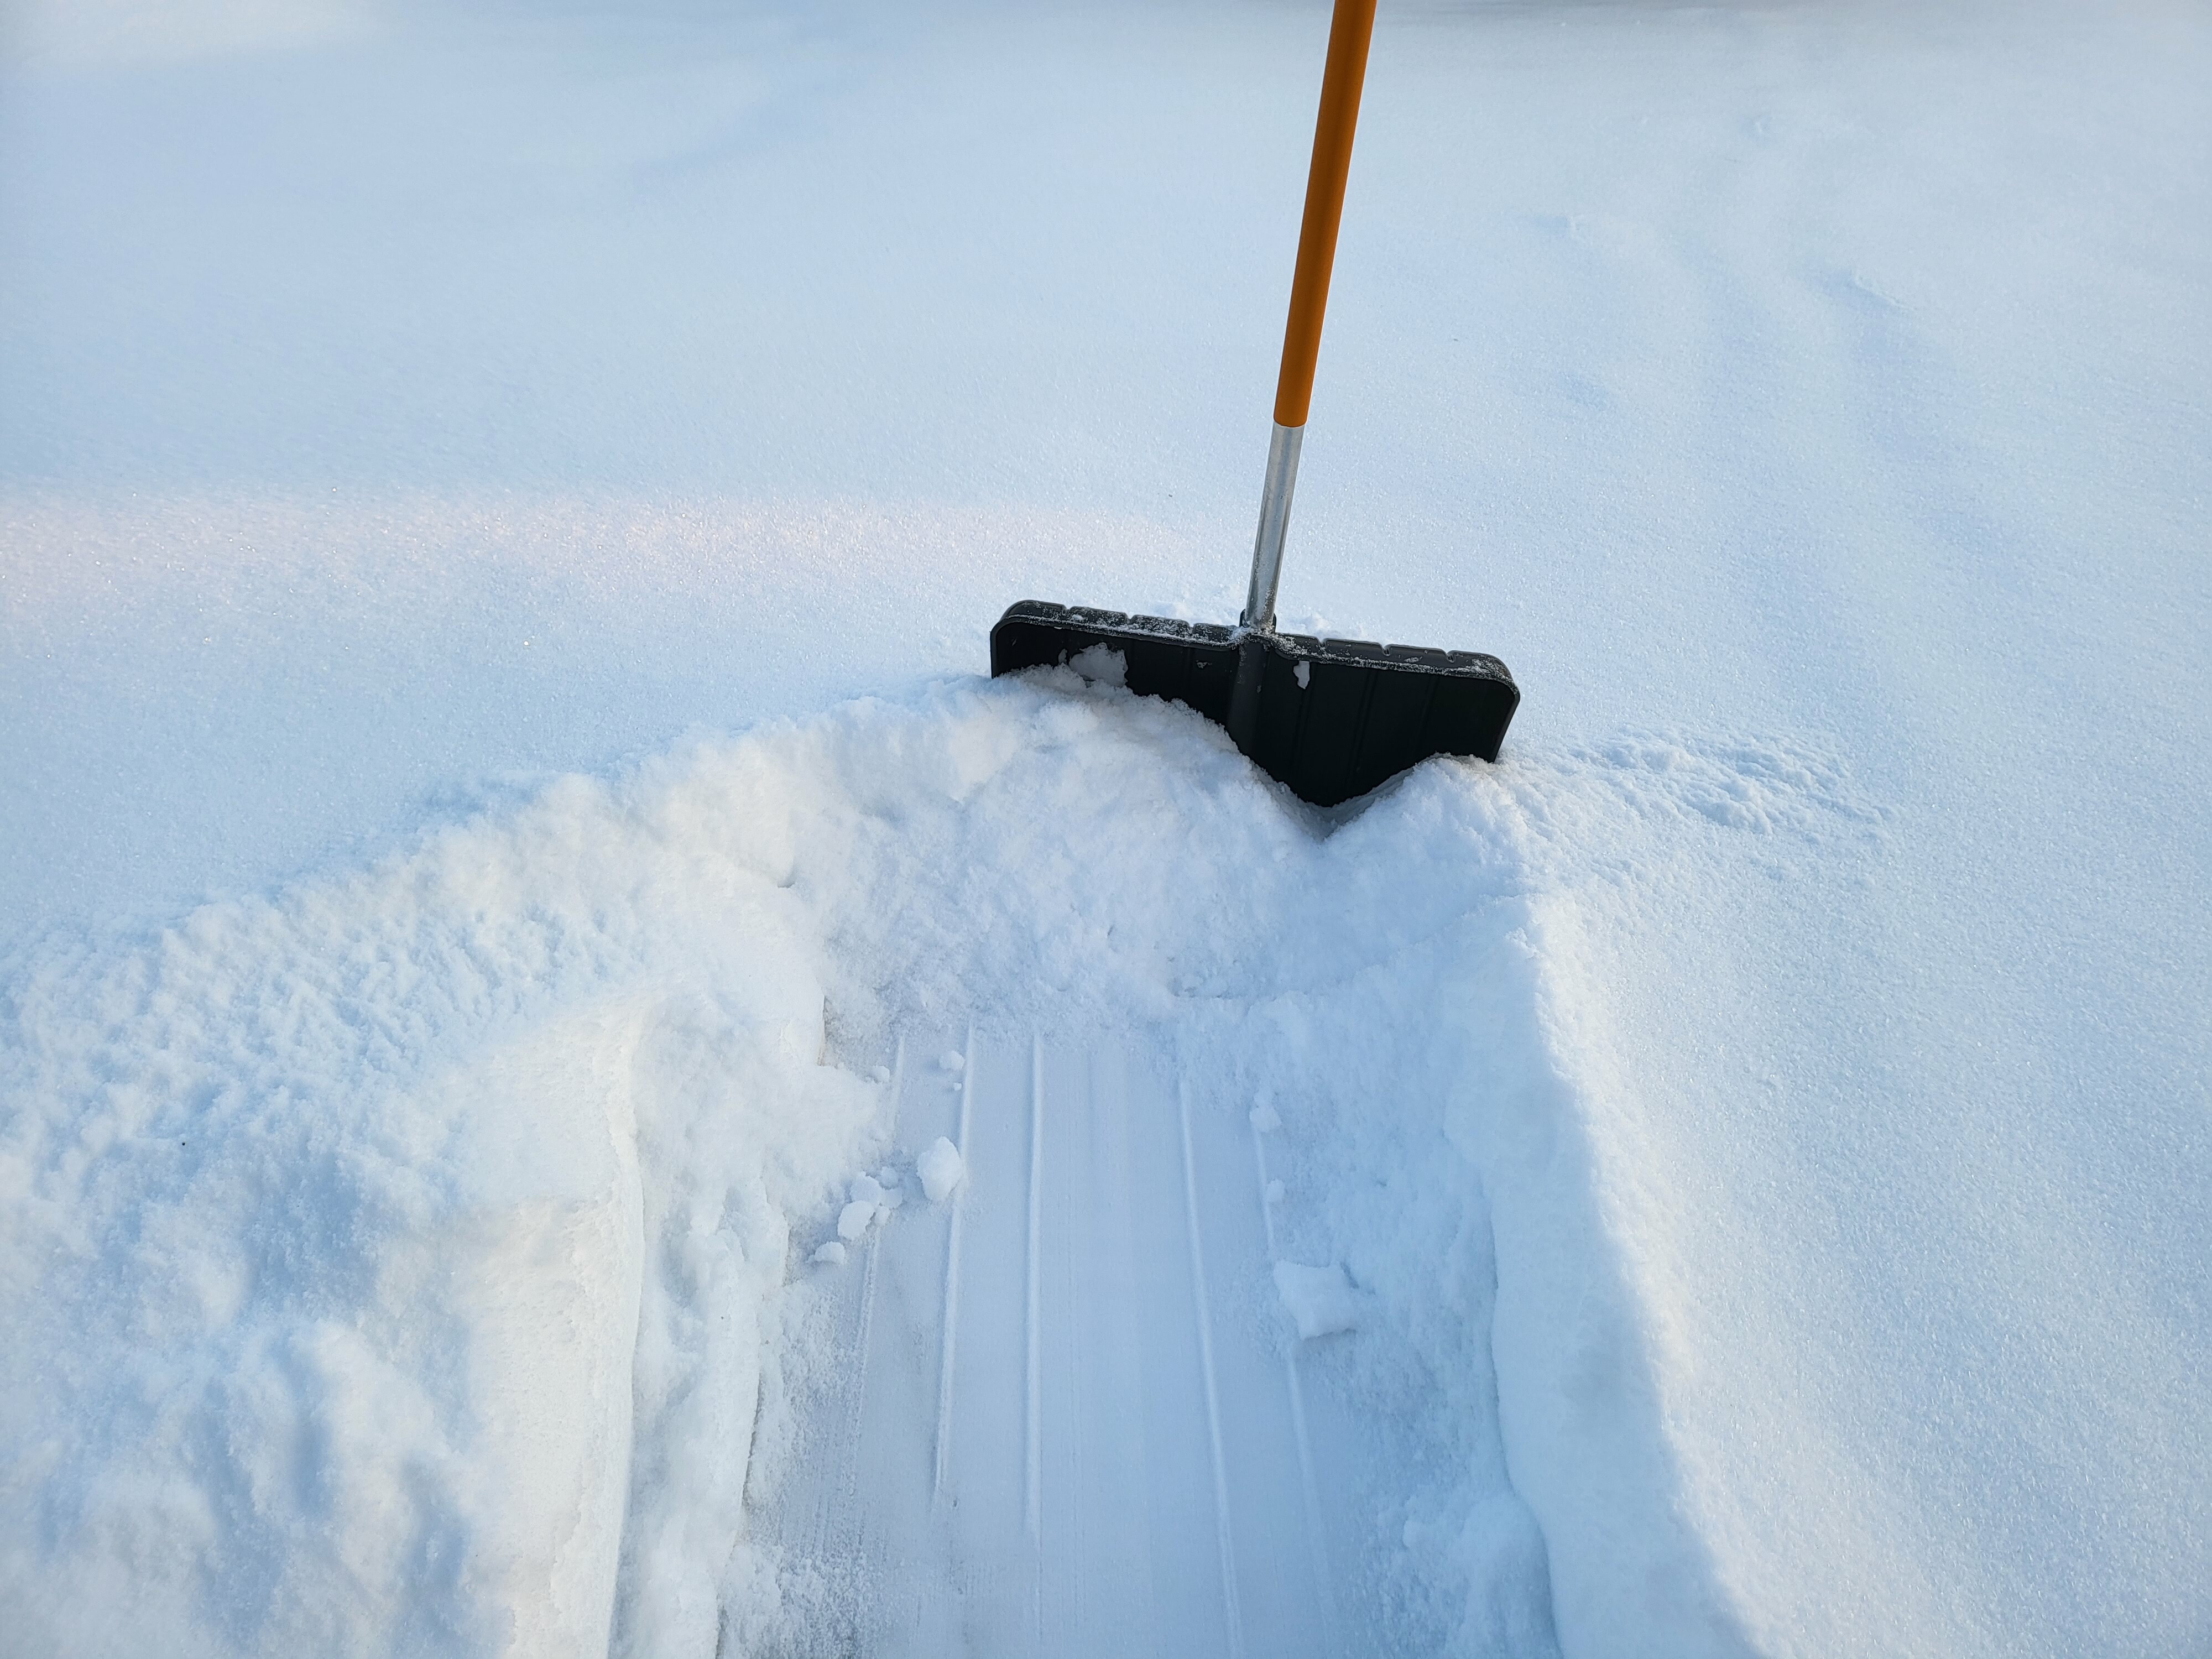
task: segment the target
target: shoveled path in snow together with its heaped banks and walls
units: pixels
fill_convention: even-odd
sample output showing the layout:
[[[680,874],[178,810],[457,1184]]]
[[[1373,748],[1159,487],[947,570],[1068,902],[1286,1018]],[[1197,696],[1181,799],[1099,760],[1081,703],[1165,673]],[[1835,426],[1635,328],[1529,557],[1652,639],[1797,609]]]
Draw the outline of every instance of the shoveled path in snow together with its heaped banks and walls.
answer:
[[[1316,814],[1060,670],[40,951],[0,1599],[86,1655],[1256,1655],[1323,1593],[1347,1652],[1741,1650],[1593,940],[1869,830],[1774,743]],[[876,1243],[805,1265],[887,1161]],[[1358,1329],[1296,1347],[1270,1256]]]

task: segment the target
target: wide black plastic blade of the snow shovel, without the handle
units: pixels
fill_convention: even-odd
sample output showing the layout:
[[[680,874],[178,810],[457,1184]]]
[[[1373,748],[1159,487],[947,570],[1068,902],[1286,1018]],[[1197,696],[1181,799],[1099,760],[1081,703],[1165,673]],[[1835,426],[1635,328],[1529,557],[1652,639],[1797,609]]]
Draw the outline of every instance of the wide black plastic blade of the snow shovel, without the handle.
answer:
[[[1022,599],[991,628],[991,675],[1048,668],[1104,646],[1139,697],[1230,723],[1234,628]],[[1480,650],[1265,635],[1259,723],[1245,754],[1301,801],[1334,807],[1431,754],[1498,759],[1520,688]],[[1077,664],[1084,666],[1084,664]],[[1097,677],[1097,675],[1093,675]]]

